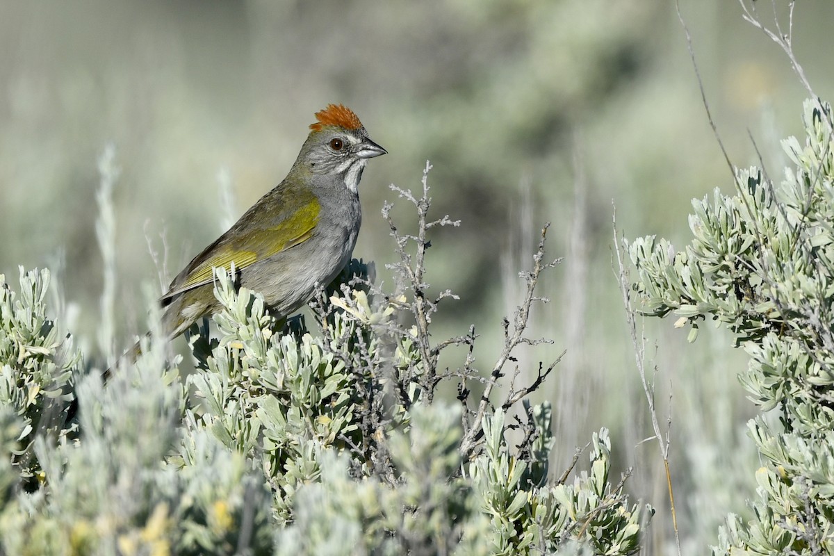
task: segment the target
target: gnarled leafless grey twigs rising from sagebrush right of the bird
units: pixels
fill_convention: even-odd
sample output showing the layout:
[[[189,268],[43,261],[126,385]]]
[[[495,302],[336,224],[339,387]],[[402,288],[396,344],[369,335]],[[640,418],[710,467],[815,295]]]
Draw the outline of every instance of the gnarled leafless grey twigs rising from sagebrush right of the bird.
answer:
[[[475,453],[475,448],[477,448],[483,436],[483,419],[487,409],[492,407],[490,394],[493,393],[499,379],[503,376],[506,364],[510,361],[515,362],[514,350],[520,345],[535,346],[541,343],[552,343],[552,340],[547,338],[530,338],[525,335],[525,332],[528,328],[530,309],[533,303],[548,302],[547,298],[535,295],[535,287],[539,281],[540,273],[555,266],[560,262],[560,259],[552,262],[545,261],[545,237],[550,226],[550,224],[546,224],[541,230],[538,250],[533,255],[533,269],[530,272],[520,273],[521,278],[525,280],[525,296],[516,308],[512,322],[510,323],[509,319],[504,321],[504,349],[495,361],[490,373],[486,377],[480,376],[478,370],[474,368],[474,348],[475,338],[477,338],[475,327],[470,327],[465,335],[453,336],[436,343],[430,336],[432,316],[436,313],[439,304],[445,299],[457,298],[457,296],[450,290],[441,291],[436,295],[427,293],[429,284],[425,282],[425,253],[431,245],[427,231],[437,226],[459,225],[459,222],[451,220],[448,215],[435,220],[430,220],[428,217],[431,206],[428,185],[430,169],[430,163],[426,163],[421,180],[423,190],[420,196],[407,189],[391,186],[391,189],[399,195],[399,198],[412,203],[417,209],[416,233],[406,234],[399,231],[391,217],[393,205],[390,203],[385,203],[382,211],[383,218],[389,224],[390,236],[394,239],[394,249],[399,255],[399,262],[388,265],[388,268],[395,273],[395,293],[393,295],[385,294],[374,284],[368,284],[370,292],[377,293],[380,298],[384,298],[386,308],[393,309],[395,313],[406,315],[405,323],[399,322],[397,318],[383,318],[381,322],[374,320],[373,323],[366,322],[365,325],[369,324],[377,333],[381,333],[380,335],[392,338],[398,346],[416,352],[414,361],[399,367],[392,366],[394,380],[391,381],[390,388],[405,408],[408,408],[415,399],[420,399],[423,403],[432,403],[440,382],[447,378],[461,379],[457,396],[463,408],[461,420],[464,436],[460,445],[460,453],[471,456]],[[341,298],[339,303],[342,303],[342,306],[347,308],[349,312],[362,313],[350,297],[349,292],[345,291],[344,297]],[[454,371],[447,368],[445,372],[440,372],[438,368],[440,353],[450,346],[465,346],[467,348],[465,362],[462,367]],[[559,363],[561,357],[560,355],[547,368],[540,365],[539,372],[532,379],[530,385],[523,388],[516,386],[515,378],[519,376],[520,370],[516,369],[514,379],[510,382],[509,392],[501,403],[501,407],[509,409],[537,388],[540,388],[540,385],[550,375],[555,365]],[[379,362],[376,363],[379,364]],[[480,402],[474,409],[469,406],[471,393],[468,387],[469,381],[476,381],[485,385]],[[414,385],[420,387],[416,395]]]

